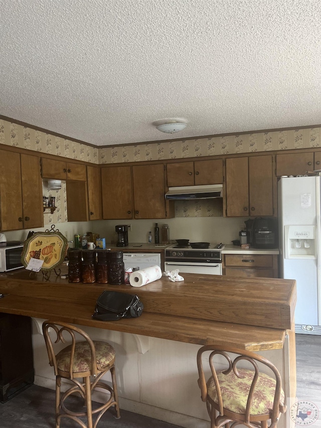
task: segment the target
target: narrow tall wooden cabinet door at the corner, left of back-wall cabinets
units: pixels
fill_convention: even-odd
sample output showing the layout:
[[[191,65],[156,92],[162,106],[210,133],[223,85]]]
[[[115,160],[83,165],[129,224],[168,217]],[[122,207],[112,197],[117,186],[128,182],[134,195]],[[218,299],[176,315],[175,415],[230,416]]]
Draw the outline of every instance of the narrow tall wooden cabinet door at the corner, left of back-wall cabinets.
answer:
[[[101,219],[101,179],[98,167],[87,167],[89,220]]]

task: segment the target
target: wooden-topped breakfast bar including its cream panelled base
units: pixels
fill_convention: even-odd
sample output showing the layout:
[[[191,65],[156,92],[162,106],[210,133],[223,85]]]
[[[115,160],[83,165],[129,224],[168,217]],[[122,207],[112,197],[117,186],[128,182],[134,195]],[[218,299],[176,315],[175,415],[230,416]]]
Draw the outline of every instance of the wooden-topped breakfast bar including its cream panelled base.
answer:
[[[287,397],[295,396],[295,281],[185,274],[140,288],[69,283],[54,272],[48,281],[25,269],[0,274],[0,312],[33,317],[35,383],[54,389],[41,334],[43,319],[83,326],[94,340],[116,349],[121,408],[190,428],[209,426],[197,385],[196,354],[205,344],[261,353],[281,372]],[[32,273],[32,275],[35,275]],[[91,318],[104,290],[137,294],[139,318]],[[283,416],[282,416],[283,417]],[[286,416],[278,428],[286,426]]]

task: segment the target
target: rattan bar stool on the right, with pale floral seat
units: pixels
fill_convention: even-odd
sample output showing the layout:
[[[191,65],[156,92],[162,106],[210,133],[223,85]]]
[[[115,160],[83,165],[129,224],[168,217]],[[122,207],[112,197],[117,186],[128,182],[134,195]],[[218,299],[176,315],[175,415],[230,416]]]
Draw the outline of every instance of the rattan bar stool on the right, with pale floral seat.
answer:
[[[203,361],[207,351],[211,351],[208,362],[212,376],[206,381]],[[231,353],[236,355],[232,356]],[[222,357],[218,361],[218,358],[214,358],[216,355],[225,358],[223,369]],[[219,370],[215,368],[218,363]],[[260,355],[232,347],[223,349],[208,345],[198,351],[197,366],[198,384],[202,400],[206,402],[211,428],[237,424],[252,428],[274,428],[280,414],[285,412],[280,374],[270,361]],[[269,375],[261,371],[263,368]]]

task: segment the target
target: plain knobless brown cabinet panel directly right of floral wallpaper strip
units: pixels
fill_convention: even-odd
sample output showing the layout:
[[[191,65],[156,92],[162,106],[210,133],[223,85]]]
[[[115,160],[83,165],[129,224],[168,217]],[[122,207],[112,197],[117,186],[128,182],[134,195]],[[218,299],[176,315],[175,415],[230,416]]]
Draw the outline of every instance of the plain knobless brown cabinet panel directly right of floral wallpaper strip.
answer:
[[[68,221],[88,221],[87,183],[66,181]]]

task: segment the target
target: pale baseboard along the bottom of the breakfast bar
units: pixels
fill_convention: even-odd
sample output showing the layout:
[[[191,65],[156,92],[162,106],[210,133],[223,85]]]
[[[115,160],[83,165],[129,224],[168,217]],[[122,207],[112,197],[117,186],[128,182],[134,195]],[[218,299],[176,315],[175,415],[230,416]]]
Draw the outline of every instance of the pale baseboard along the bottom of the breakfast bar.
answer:
[[[56,388],[55,379],[50,379],[43,376],[35,376],[35,385],[43,386],[44,388],[53,389]],[[62,391],[66,389],[64,384],[61,385]],[[95,401],[103,402],[99,399],[99,396],[94,397]],[[205,404],[204,404],[205,405]],[[120,409],[131,411],[133,413],[142,414],[143,416],[152,417],[154,419],[163,420],[174,425],[183,426],[184,428],[208,428],[210,425],[209,420],[199,419],[197,417],[189,416],[182,413],[177,413],[172,410],[167,410],[149,404],[141,403],[138,401],[129,400],[127,398],[119,397]],[[54,408],[54,403],[53,403]]]

